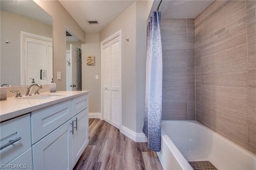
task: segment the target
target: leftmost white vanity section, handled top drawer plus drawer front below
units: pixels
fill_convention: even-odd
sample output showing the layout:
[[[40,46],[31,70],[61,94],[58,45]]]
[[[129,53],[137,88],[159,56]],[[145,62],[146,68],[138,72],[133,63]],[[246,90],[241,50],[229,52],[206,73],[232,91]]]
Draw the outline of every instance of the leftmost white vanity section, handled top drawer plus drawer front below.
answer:
[[[0,168],[32,169],[29,113],[1,122],[0,139]]]

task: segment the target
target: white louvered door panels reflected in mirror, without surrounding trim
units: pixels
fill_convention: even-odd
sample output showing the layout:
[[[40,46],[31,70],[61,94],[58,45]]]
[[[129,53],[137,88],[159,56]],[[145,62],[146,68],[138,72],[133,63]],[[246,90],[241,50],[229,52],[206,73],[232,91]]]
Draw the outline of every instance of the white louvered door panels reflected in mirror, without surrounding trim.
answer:
[[[48,62],[49,61],[49,62]],[[26,85],[49,84],[52,78],[52,43],[26,37]],[[41,70],[47,70],[46,78],[40,79]]]

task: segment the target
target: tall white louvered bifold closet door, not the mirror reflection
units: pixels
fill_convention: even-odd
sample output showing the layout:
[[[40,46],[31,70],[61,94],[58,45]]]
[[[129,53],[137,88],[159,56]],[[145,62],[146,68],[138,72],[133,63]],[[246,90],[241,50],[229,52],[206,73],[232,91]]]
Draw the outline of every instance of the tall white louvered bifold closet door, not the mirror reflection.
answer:
[[[120,129],[121,67],[120,36],[103,45],[103,119]]]

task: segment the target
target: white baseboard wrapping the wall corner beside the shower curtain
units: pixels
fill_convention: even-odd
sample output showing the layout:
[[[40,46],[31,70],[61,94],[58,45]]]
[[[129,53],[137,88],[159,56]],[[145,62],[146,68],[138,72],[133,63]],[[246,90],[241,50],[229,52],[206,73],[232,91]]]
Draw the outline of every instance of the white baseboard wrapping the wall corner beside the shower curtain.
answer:
[[[148,138],[144,133],[135,133],[134,131],[124,126],[121,127],[120,132],[135,142],[148,142]]]

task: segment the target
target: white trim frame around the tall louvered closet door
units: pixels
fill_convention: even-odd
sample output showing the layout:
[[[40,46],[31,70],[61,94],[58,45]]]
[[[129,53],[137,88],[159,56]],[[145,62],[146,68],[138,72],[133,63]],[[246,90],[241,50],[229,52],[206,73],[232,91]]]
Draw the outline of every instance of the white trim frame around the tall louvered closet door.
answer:
[[[100,53],[101,53],[101,119],[103,120],[103,45],[105,43],[108,43],[108,41],[111,41],[112,39],[120,36],[120,129],[122,129],[122,36],[121,36],[121,29],[118,30],[116,33],[110,35],[108,38],[104,39],[101,43],[100,43]]]

